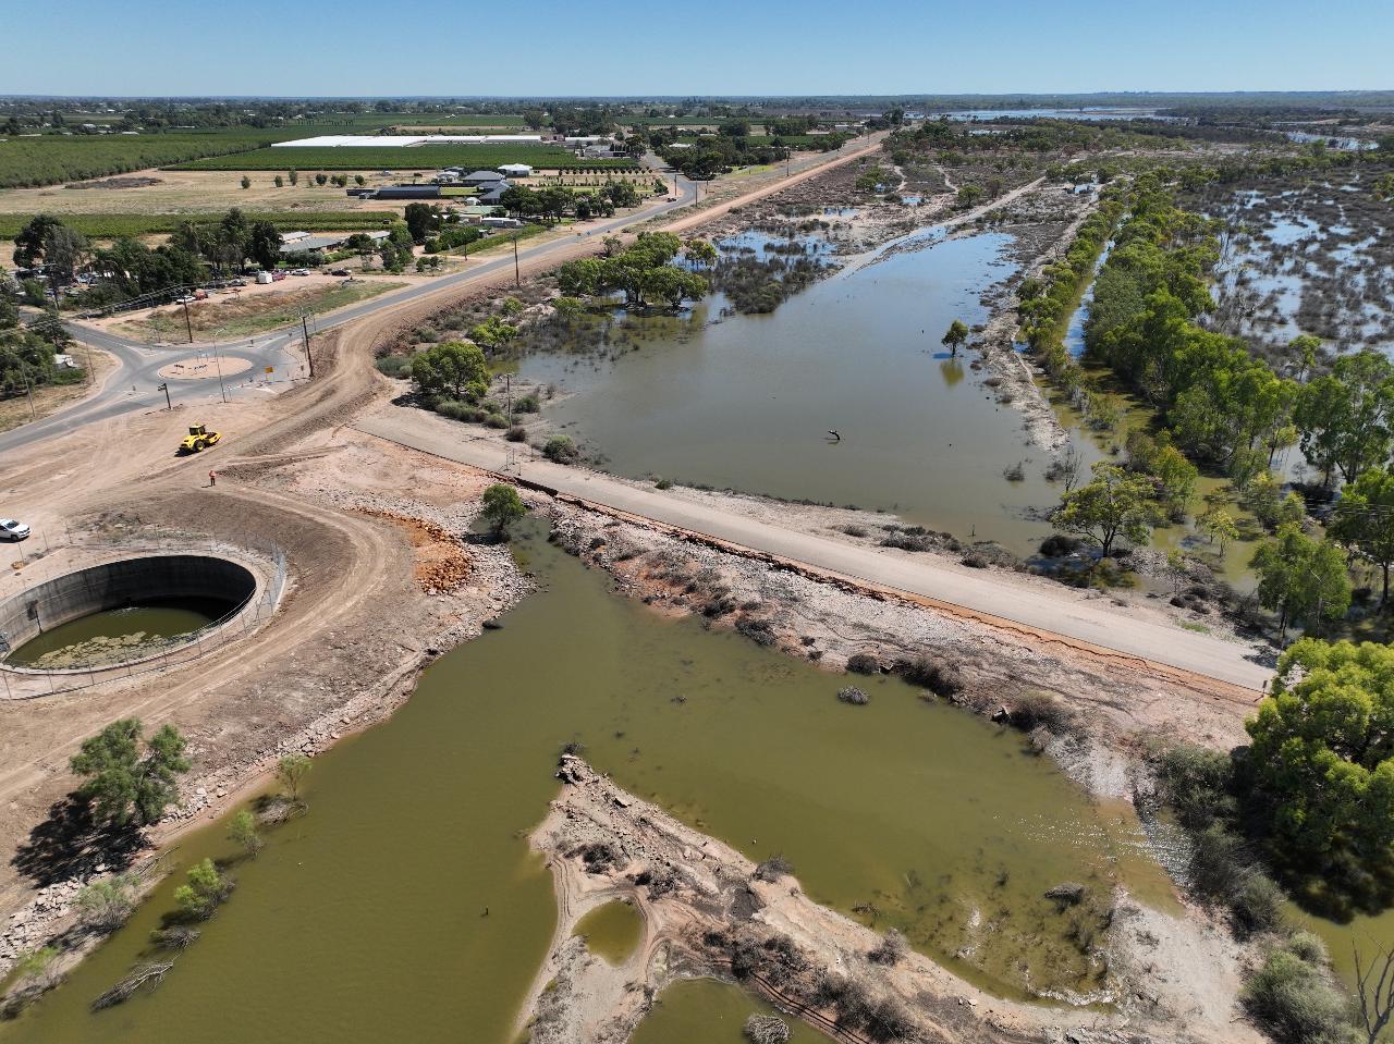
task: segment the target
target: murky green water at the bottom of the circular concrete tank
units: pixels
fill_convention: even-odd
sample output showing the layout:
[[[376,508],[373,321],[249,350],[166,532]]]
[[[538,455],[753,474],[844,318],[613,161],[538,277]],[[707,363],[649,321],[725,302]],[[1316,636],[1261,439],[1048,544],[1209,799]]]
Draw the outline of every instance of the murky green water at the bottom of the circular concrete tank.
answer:
[[[114,652],[139,655],[145,644],[197,631],[223,616],[231,605],[217,599],[178,598],[81,616],[35,636],[8,657],[26,668],[79,668],[110,661]]]

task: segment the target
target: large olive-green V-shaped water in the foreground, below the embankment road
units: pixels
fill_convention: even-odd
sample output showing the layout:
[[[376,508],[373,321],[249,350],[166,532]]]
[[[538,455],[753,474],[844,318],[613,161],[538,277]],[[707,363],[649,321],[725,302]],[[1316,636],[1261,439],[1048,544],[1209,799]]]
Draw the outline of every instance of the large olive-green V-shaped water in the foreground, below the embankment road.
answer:
[[[308,814],[231,867],[237,891],[156,992],[88,1009],[151,956],[183,870],[233,856],[223,824],[183,838],[176,874],[0,1038],[231,1044],[275,1027],[301,1044],[509,1044],[555,926],[527,834],[569,742],[1004,995],[1093,998],[1080,939],[1114,885],[1172,909],[1131,811],[1090,801],[1019,733],[889,677],[861,680],[871,703],[848,707],[838,676],[657,617],[539,537],[520,558],[545,590],[442,657],[390,722],[315,760]],[[1044,898],[1064,881],[1086,885],[1085,907]]]

